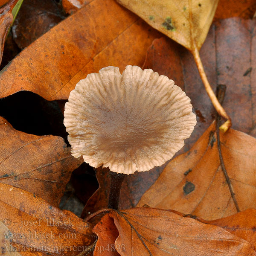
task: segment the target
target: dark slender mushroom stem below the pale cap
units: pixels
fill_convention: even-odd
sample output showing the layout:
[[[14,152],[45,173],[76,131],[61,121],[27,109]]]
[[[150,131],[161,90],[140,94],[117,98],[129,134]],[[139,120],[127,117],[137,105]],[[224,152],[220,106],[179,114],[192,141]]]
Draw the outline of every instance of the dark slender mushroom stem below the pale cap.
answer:
[[[110,172],[110,192],[108,208],[118,210],[120,191],[125,174]]]

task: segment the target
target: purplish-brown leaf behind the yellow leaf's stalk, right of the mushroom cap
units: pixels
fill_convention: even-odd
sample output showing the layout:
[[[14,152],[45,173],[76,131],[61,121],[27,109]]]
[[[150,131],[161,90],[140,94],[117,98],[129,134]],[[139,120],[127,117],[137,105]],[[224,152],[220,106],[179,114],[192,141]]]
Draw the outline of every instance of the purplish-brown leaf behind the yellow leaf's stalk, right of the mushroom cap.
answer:
[[[233,128],[256,137],[256,20],[230,18],[216,21],[201,48],[202,62],[210,84],[226,84],[223,107]],[[172,63],[170,65],[170,63]],[[192,55],[168,38],[153,41],[143,68],[168,76],[191,99],[197,125],[183,153],[198,140],[215,118],[215,110],[205,93]],[[250,69],[251,68],[251,69]],[[244,74],[249,71],[246,76]],[[244,111],[247,114],[244,114]]]

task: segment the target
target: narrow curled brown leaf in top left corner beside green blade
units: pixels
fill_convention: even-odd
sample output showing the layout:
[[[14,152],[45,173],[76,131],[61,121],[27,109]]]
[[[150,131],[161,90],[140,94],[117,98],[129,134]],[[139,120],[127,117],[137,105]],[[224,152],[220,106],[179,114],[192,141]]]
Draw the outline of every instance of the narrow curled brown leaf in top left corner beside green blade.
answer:
[[[10,26],[12,25],[13,15],[12,10],[16,6],[19,0],[10,0],[8,3],[4,1],[0,6],[0,63],[2,61],[3,56],[3,47],[4,42],[6,40],[6,36],[8,35],[8,31]],[[3,4],[5,4],[3,6]]]

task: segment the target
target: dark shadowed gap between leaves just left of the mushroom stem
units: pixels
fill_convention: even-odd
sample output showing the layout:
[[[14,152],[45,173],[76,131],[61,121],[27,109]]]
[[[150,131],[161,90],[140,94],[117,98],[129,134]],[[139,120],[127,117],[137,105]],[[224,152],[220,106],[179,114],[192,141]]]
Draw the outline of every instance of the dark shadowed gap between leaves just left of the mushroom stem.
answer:
[[[67,209],[80,216],[84,204],[98,189],[95,170],[87,163],[73,171],[61,199],[60,209]]]

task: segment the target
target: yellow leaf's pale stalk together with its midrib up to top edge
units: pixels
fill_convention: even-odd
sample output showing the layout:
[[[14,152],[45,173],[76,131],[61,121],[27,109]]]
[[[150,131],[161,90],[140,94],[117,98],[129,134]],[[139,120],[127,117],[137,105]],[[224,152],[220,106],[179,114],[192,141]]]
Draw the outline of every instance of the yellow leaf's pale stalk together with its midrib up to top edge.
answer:
[[[223,132],[226,132],[231,127],[232,122],[231,122],[230,117],[228,116],[228,114],[224,110],[224,108],[218,102],[218,99],[215,96],[215,93],[213,92],[212,87],[209,84],[207,76],[204,72],[204,67],[203,67],[203,64],[202,64],[202,61],[201,61],[201,58],[200,58],[200,55],[199,55],[198,47],[197,47],[196,42],[195,42],[194,31],[193,31],[193,23],[192,23],[193,17],[192,17],[192,10],[191,9],[192,9],[192,3],[191,3],[191,0],[189,0],[189,24],[190,24],[190,37],[191,37],[191,52],[192,52],[192,55],[194,56],[196,66],[198,68],[199,74],[200,74],[201,79],[203,81],[205,90],[206,90],[206,92],[207,92],[207,94],[208,94],[208,96],[209,96],[209,98],[212,102],[212,105],[214,106],[214,108],[218,112],[218,114],[226,120],[226,122],[224,122],[224,124],[221,125],[219,129]]]

